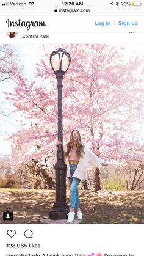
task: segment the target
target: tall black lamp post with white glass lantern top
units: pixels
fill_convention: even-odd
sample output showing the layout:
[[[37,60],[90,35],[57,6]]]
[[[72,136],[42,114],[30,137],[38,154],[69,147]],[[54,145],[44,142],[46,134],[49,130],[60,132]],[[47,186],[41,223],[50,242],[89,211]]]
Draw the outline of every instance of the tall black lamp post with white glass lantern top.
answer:
[[[63,142],[62,134],[62,81],[65,73],[70,66],[70,54],[65,49],[59,48],[53,51],[50,56],[52,70],[56,75],[58,88],[58,140]],[[66,202],[66,171],[67,166],[64,162],[63,145],[58,145],[57,162],[54,166],[56,170],[56,202],[52,210],[49,211],[49,219],[67,219],[69,207]]]

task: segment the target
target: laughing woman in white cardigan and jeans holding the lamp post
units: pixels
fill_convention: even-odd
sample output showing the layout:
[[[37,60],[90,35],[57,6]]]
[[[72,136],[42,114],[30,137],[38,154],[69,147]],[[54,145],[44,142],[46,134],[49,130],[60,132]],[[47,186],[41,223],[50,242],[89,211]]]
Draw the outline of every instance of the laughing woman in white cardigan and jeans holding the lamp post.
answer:
[[[62,142],[58,141],[57,145],[59,144],[62,144]],[[87,147],[82,145],[81,135],[77,130],[71,131],[70,141],[63,146],[63,151],[65,153],[65,163],[67,164],[67,176],[71,185],[71,205],[67,222],[73,222],[75,207],[77,211],[77,219],[82,220],[78,186],[81,180],[86,180],[88,163],[91,163],[98,168],[107,166],[108,164],[98,158],[94,153],[90,152]]]

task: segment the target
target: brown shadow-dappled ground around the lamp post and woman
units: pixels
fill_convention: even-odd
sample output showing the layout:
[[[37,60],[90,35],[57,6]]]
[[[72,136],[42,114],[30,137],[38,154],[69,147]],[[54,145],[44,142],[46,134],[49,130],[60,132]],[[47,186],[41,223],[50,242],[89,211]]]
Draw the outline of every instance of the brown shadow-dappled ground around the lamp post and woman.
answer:
[[[55,191],[0,188],[0,223],[8,209],[14,214],[10,223],[39,223],[48,218],[54,199]],[[80,202],[82,223],[144,223],[144,191],[80,191]]]

